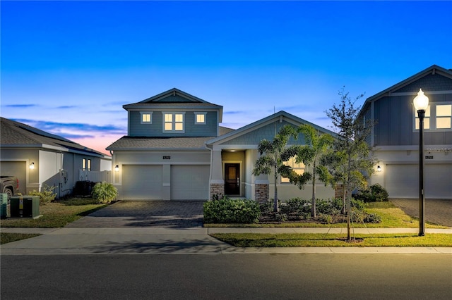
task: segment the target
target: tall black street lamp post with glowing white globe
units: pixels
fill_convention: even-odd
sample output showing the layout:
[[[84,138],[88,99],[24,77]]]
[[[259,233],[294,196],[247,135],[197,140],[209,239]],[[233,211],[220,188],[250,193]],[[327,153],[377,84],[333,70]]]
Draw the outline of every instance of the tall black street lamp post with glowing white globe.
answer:
[[[419,89],[413,100],[419,117],[419,235],[425,235],[425,192],[424,192],[424,116],[429,106],[429,97]]]

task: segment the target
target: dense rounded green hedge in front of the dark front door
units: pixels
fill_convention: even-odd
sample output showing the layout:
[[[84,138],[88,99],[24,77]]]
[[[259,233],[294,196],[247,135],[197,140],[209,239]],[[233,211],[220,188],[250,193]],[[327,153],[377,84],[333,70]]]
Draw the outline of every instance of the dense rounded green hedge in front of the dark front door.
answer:
[[[257,223],[261,216],[258,202],[249,199],[222,199],[203,204],[204,223]]]

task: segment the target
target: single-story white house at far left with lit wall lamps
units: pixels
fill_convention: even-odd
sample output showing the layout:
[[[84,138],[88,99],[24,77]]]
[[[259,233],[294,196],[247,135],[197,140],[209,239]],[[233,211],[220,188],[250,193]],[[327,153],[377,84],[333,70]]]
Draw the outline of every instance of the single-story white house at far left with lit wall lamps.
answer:
[[[21,194],[48,185],[59,198],[71,194],[77,181],[101,171],[109,180],[110,156],[6,118],[0,125],[0,172],[18,177]]]

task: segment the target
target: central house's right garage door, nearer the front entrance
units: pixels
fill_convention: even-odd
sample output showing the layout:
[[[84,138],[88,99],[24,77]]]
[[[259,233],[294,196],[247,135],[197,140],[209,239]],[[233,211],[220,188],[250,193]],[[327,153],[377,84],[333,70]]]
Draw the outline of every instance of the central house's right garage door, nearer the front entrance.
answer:
[[[209,191],[208,165],[172,165],[172,200],[207,200]]]

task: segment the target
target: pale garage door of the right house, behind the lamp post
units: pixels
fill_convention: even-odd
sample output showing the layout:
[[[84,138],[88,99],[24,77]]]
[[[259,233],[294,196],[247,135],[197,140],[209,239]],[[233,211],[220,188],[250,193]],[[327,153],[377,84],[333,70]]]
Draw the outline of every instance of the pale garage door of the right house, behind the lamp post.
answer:
[[[385,187],[391,198],[419,197],[419,165],[386,165]],[[452,166],[425,164],[426,198],[452,198]]]

